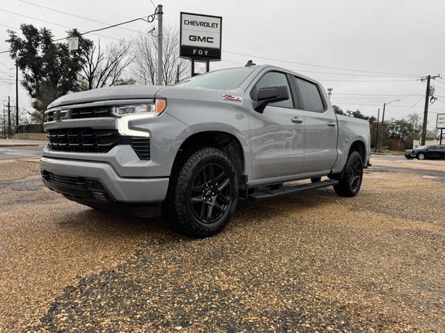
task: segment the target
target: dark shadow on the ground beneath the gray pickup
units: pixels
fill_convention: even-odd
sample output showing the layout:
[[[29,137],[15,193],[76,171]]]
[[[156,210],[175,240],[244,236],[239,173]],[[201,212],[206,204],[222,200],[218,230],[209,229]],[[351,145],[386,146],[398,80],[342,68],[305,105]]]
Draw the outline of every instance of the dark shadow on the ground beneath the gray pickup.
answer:
[[[332,190],[310,190],[304,194],[291,194],[269,200],[239,200],[236,211],[229,223],[229,232],[236,232],[238,228],[247,225],[260,224],[269,219],[291,213],[300,209],[306,210],[330,201],[335,197]],[[184,235],[176,232],[163,217],[141,218],[129,214],[93,210],[90,207],[77,205],[67,214],[60,216],[58,225],[66,230],[76,230],[79,233],[92,232],[97,237],[145,237],[147,239],[184,239]]]

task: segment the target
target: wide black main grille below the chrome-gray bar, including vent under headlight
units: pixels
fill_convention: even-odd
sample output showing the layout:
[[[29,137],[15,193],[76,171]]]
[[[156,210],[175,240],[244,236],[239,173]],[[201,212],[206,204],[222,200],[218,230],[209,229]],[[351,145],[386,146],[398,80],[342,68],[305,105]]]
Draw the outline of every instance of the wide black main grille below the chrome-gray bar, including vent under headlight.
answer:
[[[108,153],[118,144],[129,144],[140,160],[150,159],[149,137],[128,137],[118,130],[58,128],[48,130],[48,148],[72,153]]]

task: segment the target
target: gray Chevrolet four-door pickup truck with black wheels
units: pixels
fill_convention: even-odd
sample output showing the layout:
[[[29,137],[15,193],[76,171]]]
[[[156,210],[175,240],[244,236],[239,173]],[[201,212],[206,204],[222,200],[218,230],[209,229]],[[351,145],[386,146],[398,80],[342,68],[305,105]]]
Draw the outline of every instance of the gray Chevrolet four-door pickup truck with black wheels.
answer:
[[[68,94],[44,130],[49,189],[98,210],[163,212],[193,237],[223,229],[238,199],[326,186],[355,196],[370,153],[367,121],[335,114],[315,80],[268,65]],[[289,184],[302,179],[312,182]]]

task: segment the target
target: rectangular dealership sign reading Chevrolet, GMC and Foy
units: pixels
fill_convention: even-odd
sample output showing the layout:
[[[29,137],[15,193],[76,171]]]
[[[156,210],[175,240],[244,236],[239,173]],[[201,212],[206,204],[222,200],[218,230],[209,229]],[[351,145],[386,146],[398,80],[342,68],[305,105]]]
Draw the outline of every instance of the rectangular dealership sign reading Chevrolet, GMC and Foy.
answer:
[[[181,12],[179,56],[198,61],[221,60],[223,17]]]

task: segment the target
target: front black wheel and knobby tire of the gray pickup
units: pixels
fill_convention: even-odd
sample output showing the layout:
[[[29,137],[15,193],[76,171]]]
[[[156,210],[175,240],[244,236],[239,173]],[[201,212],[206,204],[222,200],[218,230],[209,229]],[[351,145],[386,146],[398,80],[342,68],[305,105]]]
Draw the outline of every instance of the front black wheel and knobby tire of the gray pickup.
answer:
[[[195,151],[172,172],[163,212],[179,232],[204,238],[223,230],[238,203],[238,177],[218,148]]]

